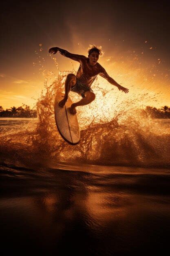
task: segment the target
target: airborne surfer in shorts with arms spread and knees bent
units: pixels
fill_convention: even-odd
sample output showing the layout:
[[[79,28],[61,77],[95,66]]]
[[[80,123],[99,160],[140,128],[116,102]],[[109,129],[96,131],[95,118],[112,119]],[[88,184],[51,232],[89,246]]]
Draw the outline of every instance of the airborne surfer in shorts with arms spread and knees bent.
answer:
[[[72,73],[67,75],[65,81],[65,96],[59,102],[60,107],[63,108],[68,100],[68,93],[70,91],[77,92],[79,95],[81,95],[82,99],[71,105],[70,111],[72,114],[76,114],[77,106],[84,106],[95,100],[95,94],[91,89],[91,85],[98,74],[104,77],[112,85],[117,86],[119,91],[128,93],[129,90],[119,85],[107,74],[104,67],[97,62],[99,55],[102,55],[102,50],[96,45],[91,46],[91,48],[88,50],[88,58],[84,55],[72,54],[59,47],[52,47],[49,49],[50,54],[56,54],[57,52],[60,52],[60,54],[63,56],[71,58],[72,60],[80,63],[76,76]]]

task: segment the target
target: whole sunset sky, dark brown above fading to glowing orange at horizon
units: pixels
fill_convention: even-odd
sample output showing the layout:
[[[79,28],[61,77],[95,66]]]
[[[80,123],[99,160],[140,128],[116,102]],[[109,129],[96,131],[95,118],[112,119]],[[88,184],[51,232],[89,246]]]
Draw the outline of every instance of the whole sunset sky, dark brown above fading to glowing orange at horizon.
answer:
[[[129,88],[126,99],[148,93],[156,100],[144,98],[144,105],[170,106],[168,1],[16,1],[3,2],[0,12],[0,106],[4,109],[22,103],[34,106],[43,89],[42,71],[57,75],[50,47],[87,56],[90,44],[102,46],[104,56],[98,62]],[[53,57],[60,70],[72,69],[70,59],[59,53]],[[72,62],[78,68],[79,63]],[[103,78],[99,82],[112,86]]]

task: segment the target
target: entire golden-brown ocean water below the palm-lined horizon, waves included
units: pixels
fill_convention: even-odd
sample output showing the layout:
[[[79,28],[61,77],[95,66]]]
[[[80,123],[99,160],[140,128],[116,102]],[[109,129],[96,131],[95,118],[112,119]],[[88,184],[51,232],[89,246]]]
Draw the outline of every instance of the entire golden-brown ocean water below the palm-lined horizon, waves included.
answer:
[[[169,250],[170,120],[93,124],[76,146],[47,121],[0,119],[1,255]]]

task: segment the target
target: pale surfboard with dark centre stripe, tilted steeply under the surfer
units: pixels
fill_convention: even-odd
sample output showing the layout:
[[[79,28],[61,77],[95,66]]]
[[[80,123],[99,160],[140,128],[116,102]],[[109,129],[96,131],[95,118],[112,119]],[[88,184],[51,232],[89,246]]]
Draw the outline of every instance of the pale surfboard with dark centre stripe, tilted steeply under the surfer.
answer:
[[[59,106],[59,102],[63,99],[64,93],[57,92],[54,103],[55,122],[57,129],[62,138],[71,145],[79,143],[80,130],[76,114],[71,114],[69,108],[73,102],[68,97],[65,106]]]

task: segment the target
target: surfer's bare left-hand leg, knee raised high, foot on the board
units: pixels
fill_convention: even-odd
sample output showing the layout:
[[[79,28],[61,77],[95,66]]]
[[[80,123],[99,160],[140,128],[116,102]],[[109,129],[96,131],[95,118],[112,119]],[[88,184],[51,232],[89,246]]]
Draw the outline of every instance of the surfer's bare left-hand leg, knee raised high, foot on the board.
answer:
[[[66,101],[68,100],[68,93],[70,92],[71,87],[76,85],[76,76],[74,74],[68,74],[65,81],[65,95],[64,98],[59,102],[60,107],[64,107]]]

